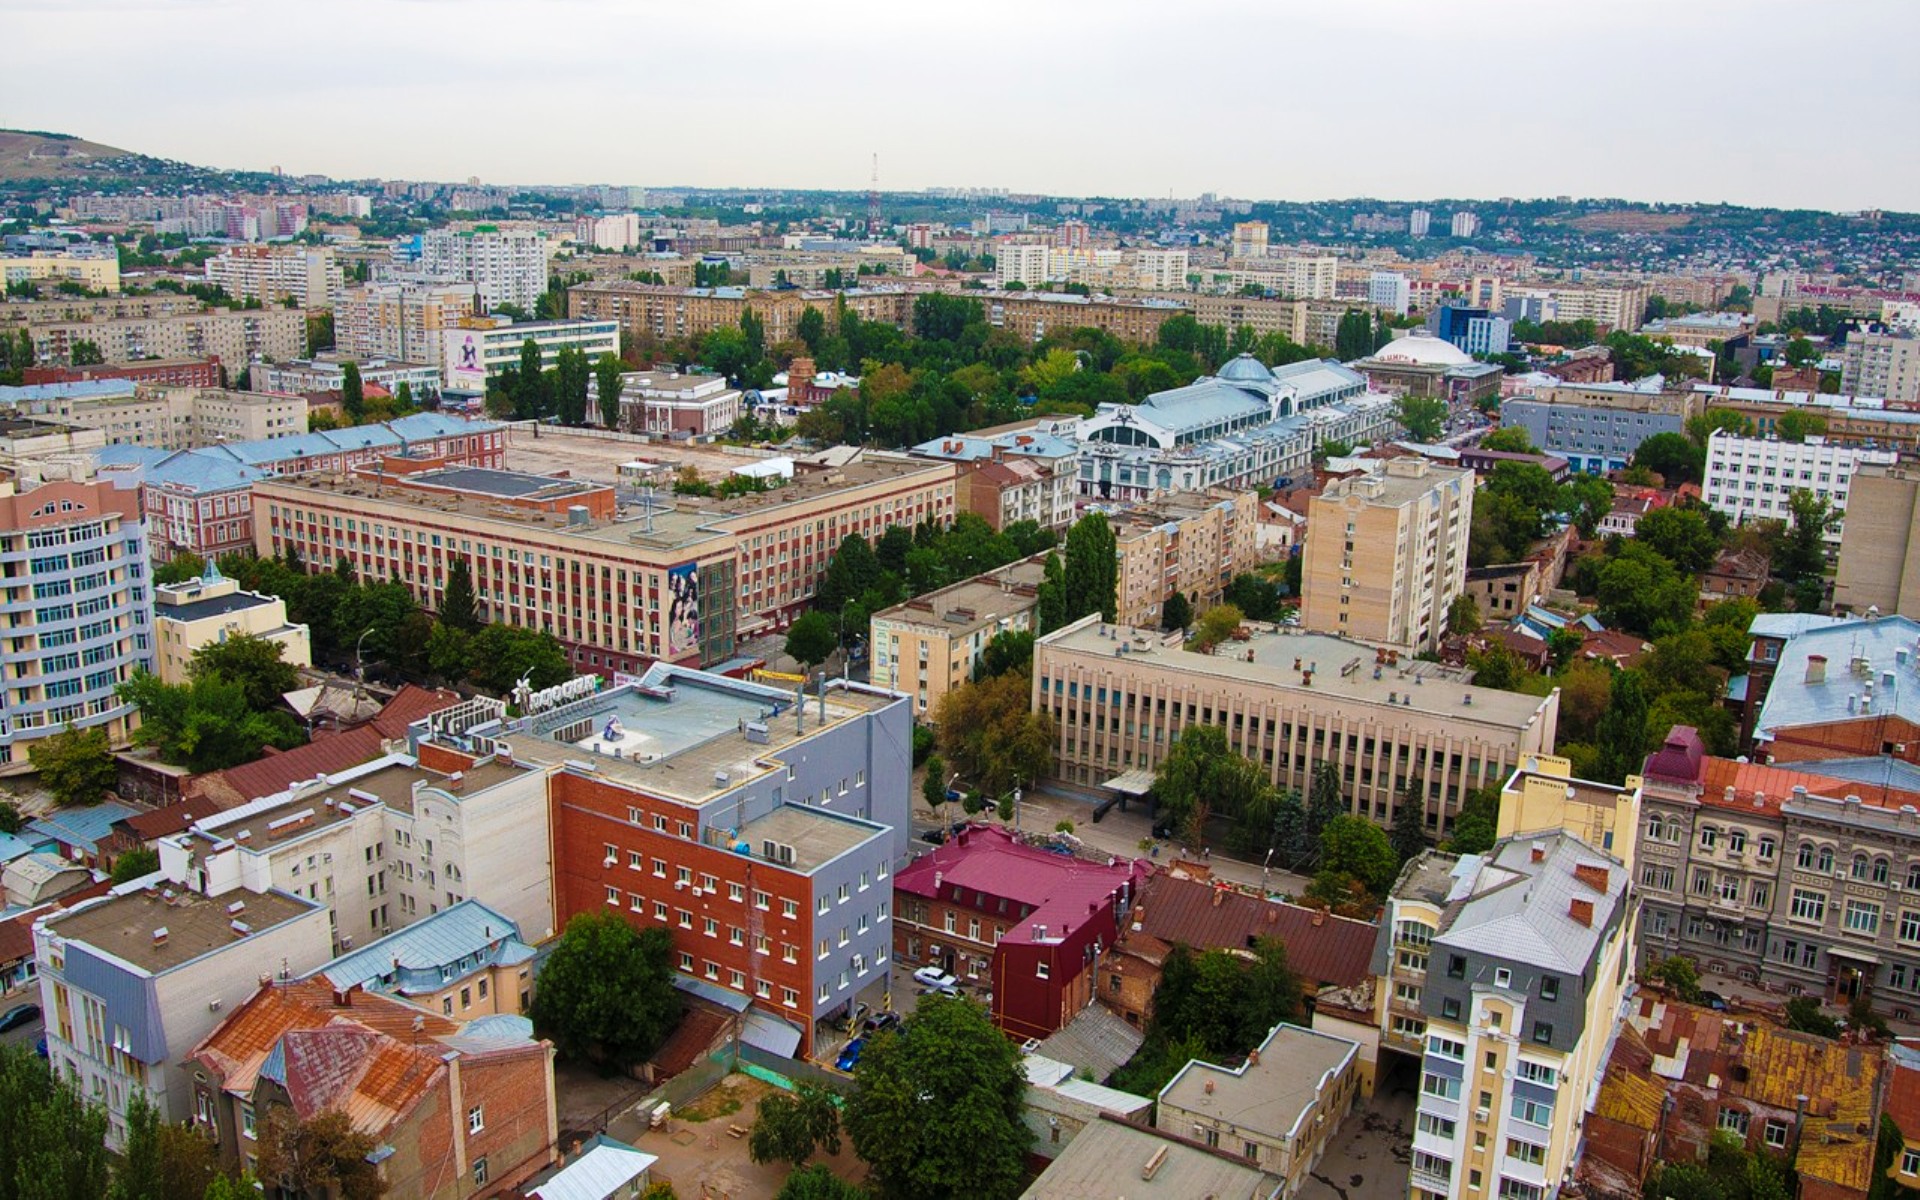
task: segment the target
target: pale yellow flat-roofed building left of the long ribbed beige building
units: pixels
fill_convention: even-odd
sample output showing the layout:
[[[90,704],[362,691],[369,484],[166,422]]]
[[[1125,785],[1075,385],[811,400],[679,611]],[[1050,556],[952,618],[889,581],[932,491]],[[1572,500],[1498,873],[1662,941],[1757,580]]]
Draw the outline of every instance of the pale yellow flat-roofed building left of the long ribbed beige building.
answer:
[[[881,609],[868,620],[874,687],[914,701],[933,720],[948,691],[973,678],[998,634],[1037,632],[1044,564],[1025,559]]]

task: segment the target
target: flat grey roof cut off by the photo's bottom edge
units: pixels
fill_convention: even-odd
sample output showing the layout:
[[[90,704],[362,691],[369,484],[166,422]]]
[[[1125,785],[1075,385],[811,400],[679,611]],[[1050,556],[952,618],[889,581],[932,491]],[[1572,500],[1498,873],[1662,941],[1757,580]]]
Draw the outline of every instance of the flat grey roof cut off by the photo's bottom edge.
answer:
[[[1114,1117],[1089,1121],[1048,1164],[1021,1200],[1269,1200],[1283,1181],[1244,1158]]]

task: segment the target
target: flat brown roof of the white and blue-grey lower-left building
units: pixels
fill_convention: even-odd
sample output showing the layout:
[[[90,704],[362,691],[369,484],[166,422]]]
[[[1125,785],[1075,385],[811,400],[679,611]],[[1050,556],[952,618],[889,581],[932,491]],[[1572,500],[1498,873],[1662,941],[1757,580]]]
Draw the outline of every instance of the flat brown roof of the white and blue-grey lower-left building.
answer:
[[[167,899],[169,895],[173,899]],[[242,908],[232,912],[234,904]],[[234,922],[242,922],[250,933],[259,933],[317,908],[323,904],[282,891],[230,891],[209,899],[198,891],[169,887],[108,897],[98,904],[48,918],[46,927],[157,975],[246,941],[248,935],[236,931]],[[167,931],[159,945],[154,937],[157,929]]]

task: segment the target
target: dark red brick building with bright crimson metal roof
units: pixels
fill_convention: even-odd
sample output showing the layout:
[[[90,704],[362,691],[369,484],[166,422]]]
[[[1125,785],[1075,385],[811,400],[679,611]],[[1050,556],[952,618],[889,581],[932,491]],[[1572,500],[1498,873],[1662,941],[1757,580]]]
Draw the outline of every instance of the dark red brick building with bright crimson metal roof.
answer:
[[[1150,872],[1142,858],[1091,862],[973,826],[895,877],[893,956],[900,970],[985,975],[995,1023],[1046,1037],[1092,1002],[1092,968]]]

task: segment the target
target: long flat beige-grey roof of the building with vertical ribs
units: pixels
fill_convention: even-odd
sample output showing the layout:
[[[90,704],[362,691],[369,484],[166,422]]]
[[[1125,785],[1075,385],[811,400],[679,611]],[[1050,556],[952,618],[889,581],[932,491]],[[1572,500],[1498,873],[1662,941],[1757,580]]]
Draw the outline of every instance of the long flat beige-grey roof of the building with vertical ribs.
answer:
[[[1275,687],[1298,693],[1302,703],[1392,705],[1409,712],[1446,714],[1448,720],[1513,730],[1524,728],[1548,703],[1548,697],[1463,684],[1459,668],[1423,662],[1405,653],[1398,664],[1380,666],[1375,676],[1371,645],[1332,634],[1250,628],[1248,641],[1227,641],[1212,655],[1188,651],[1160,630],[1106,626],[1096,620],[1048,634],[1039,645],[1096,657],[1102,668],[1125,670],[1131,660],[1160,670]],[[1127,655],[1116,657],[1123,645]],[[1308,670],[1313,674],[1311,684],[1304,682]]]

